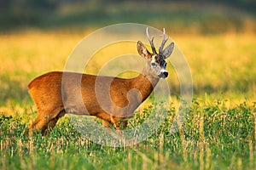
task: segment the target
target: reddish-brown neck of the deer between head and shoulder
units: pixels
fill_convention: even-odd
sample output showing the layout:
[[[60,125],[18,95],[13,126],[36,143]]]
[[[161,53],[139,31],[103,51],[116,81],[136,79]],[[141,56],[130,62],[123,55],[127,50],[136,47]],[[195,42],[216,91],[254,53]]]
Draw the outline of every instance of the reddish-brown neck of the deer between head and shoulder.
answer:
[[[133,87],[140,91],[144,101],[151,94],[159,80],[159,77],[154,77],[150,74],[146,65],[143,72],[134,79]]]

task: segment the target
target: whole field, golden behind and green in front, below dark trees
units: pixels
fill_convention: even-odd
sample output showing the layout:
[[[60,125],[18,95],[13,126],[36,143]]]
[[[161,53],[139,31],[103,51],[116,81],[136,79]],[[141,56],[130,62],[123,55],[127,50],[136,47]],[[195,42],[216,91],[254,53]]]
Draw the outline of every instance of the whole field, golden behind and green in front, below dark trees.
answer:
[[[0,36],[1,169],[256,168],[256,41],[252,33],[173,35],[188,59],[195,89],[193,104],[184,108],[185,122],[177,133],[170,133],[170,127],[179,105],[179,82],[169,66],[172,105],[165,122],[142,143],[123,148],[92,143],[68,117],[48,136],[27,138],[26,128],[37,114],[27,84],[46,71],[62,71],[67,56],[88,33],[27,31]],[[104,50],[96,55],[123,53],[122,48]],[[143,108],[129,127],[143,122],[154,106]]]

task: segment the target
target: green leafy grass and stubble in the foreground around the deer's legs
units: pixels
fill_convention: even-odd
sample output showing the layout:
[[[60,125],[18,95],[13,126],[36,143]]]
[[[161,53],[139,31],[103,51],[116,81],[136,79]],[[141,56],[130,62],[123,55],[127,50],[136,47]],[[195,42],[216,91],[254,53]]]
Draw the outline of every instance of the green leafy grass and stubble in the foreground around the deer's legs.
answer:
[[[138,125],[154,109],[137,111]],[[84,139],[68,117],[49,135],[26,133],[27,118],[0,117],[1,169],[253,169],[256,167],[256,104],[194,99],[183,127],[170,133],[176,109],[148,139],[131,147],[113,148]],[[25,120],[24,120],[25,119]]]

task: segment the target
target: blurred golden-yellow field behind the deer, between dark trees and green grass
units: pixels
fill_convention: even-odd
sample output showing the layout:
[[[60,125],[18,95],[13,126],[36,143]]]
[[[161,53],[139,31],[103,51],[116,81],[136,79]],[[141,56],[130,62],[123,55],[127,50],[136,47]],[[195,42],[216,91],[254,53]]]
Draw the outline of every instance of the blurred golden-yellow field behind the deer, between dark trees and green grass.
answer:
[[[63,71],[68,56],[90,32],[21,31],[1,35],[1,112],[27,110],[26,104],[32,105],[27,84],[47,71]],[[228,99],[233,105],[244,100],[255,101],[256,38],[253,33],[169,35],[188,60],[196,98]],[[123,42],[102,48],[85,72],[95,74],[108,59],[129,52],[137,54],[136,43]],[[179,82],[172,65],[169,63],[167,67],[170,71],[167,81],[175,98],[179,95]]]

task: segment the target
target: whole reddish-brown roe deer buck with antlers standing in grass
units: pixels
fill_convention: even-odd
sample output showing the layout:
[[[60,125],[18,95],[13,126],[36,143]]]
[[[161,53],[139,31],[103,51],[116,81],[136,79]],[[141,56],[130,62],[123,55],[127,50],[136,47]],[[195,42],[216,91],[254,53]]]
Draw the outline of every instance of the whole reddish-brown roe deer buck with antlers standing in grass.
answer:
[[[137,107],[148,98],[160,78],[168,76],[165,59],[172,54],[174,43],[164,49],[168,39],[165,33],[163,29],[159,54],[154,48],[154,37],[150,38],[148,35],[148,28],[146,35],[153,54],[148,52],[143,42],[137,42],[138,54],[146,59],[146,65],[137,77],[123,79],[53,71],[32,80],[28,89],[37,105],[38,117],[29,127],[30,133],[35,129],[41,130],[45,135],[66,113],[97,116],[102,119],[104,127],[110,125],[117,130],[125,127],[125,119],[130,118]],[[108,82],[111,83],[107,87]],[[96,86],[96,83],[99,85]],[[79,95],[81,101],[77,99]]]

